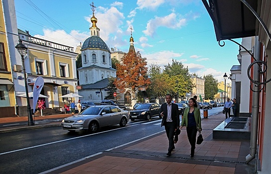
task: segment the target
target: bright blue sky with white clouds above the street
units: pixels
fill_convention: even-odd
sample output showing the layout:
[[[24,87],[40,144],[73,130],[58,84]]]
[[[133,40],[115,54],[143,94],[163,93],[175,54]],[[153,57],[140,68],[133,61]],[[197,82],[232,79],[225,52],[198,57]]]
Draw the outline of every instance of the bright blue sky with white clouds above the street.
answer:
[[[90,37],[92,0],[14,0],[18,28],[32,36],[76,47]],[[220,47],[201,0],[93,0],[100,37],[109,48],[127,52],[130,27],[134,46],[148,67],[162,68],[172,59],[199,77],[218,81],[239,65],[239,46]],[[236,39],[239,43],[241,39]]]

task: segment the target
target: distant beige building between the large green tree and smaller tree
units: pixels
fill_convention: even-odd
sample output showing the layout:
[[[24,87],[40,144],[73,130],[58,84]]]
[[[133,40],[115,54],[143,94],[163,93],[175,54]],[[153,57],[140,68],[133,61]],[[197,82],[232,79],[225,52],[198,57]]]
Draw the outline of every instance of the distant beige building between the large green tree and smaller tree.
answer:
[[[203,101],[204,100],[204,82],[205,80],[202,78],[199,78],[197,76],[191,75],[191,81],[195,87],[193,87],[192,92],[190,93],[190,97],[193,97],[194,95],[197,96],[197,101]],[[187,97],[189,98],[189,97]]]

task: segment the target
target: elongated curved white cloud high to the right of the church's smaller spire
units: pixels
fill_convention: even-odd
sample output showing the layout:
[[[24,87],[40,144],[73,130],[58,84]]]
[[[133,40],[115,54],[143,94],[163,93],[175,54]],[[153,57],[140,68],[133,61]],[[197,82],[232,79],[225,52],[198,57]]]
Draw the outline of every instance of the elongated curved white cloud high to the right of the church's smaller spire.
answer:
[[[171,13],[164,17],[155,16],[154,19],[151,19],[147,23],[146,30],[143,31],[147,36],[153,36],[155,34],[155,30],[160,27],[168,27],[168,28],[181,28],[186,24],[186,19],[182,18],[180,15],[176,13]]]

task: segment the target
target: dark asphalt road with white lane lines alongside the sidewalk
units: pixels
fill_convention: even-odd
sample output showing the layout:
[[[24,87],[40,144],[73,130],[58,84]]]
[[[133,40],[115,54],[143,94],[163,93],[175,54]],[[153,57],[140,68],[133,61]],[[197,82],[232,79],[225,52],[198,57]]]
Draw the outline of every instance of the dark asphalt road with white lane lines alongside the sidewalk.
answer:
[[[208,116],[222,111],[208,110]],[[203,118],[203,110],[201,109]],[[164,131],[159,117],[102,128],[98,133],[48,127],[0,134],[0,174],[38,174]]]

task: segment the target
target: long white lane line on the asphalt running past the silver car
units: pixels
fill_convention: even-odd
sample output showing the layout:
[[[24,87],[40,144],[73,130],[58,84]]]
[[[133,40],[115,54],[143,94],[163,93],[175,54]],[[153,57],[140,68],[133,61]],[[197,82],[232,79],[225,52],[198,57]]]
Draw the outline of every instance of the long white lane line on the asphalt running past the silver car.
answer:
[[[74,139],[78,139],[78,138],[88,137],[88,136],[92,136],[92,135],[96,135],[96,134],[101,134],[101,133],[104,133],[104,132],[110,132],[110,131],[114,131],[114,130],[118,130],[118,129],[132,127],[132,126],[136,126],[136,125],[126,126],[126,127],[120,127],[120,128],[117,128],[117,129],[107,130],[107,131],[103,131],[103,132],[97,132],[97,133],[94,133],[94,134],[84,135],[84,136],[81,136],[81,137],[74,137],[74,138],[69,138],[69,139],[66,139],[66,140],[60,140],[60,141],[55,141],[55,142],[51,142],[51,143],[41,144],[41,145],[32,146],[32,147],[28,147],[28,148],[17,149],[17,150],[14,150],[14,151],[3,152],[3,153],[0,153],[0,155],[10,154],[10,153],[13,153],[13,152],[19,152],[19,151],[23,151],[23,150],[27,150],[27,149],[33,149],[33,148],[42,147],[42,146],[46,146],[46,145],[50,145],[50,144],[55,144],[55,143],[60,143],[60,142],[64,142],[64,141],[74,140]]]

